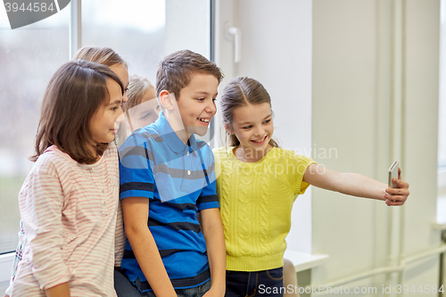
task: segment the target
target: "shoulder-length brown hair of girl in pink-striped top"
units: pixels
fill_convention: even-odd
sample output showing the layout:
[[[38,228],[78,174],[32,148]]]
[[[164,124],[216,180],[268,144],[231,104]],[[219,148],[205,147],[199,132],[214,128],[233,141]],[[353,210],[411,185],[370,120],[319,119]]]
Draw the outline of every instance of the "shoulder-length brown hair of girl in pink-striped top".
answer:
[[[97,155],[103,154],[107,144],[95,141],[89,122],[99,106],[109,99],[108,78],[115,80],[124,94],[120,78],[102,64],[67,62],[54,73],[46,87],[37,127],[36,154],[31,161],[36,161],[53,144],[79,163],[96,160],[89,150],[91,144],[96,144]]]

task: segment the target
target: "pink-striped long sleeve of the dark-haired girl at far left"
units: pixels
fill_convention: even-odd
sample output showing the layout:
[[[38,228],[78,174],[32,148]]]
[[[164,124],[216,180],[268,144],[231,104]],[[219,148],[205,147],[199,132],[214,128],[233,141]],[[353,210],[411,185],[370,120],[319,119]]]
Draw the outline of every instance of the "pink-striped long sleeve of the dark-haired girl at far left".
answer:
[[[74,271],[62,259],[64,195],[59,177],[34,171],[19,194],[32,273],[42,290],[70,281]]]

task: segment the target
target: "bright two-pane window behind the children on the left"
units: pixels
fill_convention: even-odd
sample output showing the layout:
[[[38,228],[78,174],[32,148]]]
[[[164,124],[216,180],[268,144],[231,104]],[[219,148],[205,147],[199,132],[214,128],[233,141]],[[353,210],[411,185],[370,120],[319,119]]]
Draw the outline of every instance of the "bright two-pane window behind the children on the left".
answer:
[[[115,49],[128,62],[130,74],[145,75],[154,84],[166,54],[188,48],[211,56],[210,10],[210,0],[84,0],[82,45]],[[0,5],[0,253],[17,245],[17,195],[32,167],[28,157],[45,87],[70,60],[70,17],[68,5],[43,21],[12,30]]]

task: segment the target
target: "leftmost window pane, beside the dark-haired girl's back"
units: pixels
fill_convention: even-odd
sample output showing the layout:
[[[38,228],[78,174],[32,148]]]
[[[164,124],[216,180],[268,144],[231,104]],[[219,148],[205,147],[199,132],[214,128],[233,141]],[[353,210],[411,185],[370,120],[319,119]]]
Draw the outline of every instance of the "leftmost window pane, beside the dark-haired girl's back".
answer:
[[[0,252],[18,243],[17,195],[32,167],[40,105],[50,78],[69,60],[70,9],[11,29],[0,5]]]

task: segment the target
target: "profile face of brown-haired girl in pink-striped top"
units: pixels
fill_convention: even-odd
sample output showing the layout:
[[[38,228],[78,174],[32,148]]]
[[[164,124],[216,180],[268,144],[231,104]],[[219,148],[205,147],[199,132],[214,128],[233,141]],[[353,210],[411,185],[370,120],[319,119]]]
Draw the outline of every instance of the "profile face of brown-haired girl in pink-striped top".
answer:
[[[123,97],[120,85],[111,78],[107,78],[107,89],[110,100],[101,104],[90,120],[90,131],[95,141],[110,144],[120,126],[122,110],[120,108]],[[120,117],[120,120],[118,118]]]

